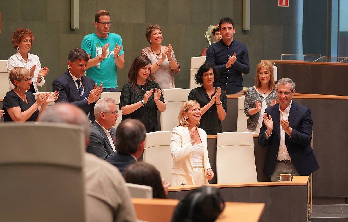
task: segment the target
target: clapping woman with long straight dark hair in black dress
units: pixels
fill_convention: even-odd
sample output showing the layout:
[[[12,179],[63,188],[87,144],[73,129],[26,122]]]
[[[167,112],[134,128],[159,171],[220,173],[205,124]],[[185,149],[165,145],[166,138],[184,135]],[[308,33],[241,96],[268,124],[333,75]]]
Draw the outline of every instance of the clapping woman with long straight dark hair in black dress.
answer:
[[[130,66],[129,82],[122,87],[120,98],[122,120],[138,119],[147,132],[157,131],[157,110],[166,110],[158,83],[150,79],[153,79],[150,59],[144,55],[138,56]]]

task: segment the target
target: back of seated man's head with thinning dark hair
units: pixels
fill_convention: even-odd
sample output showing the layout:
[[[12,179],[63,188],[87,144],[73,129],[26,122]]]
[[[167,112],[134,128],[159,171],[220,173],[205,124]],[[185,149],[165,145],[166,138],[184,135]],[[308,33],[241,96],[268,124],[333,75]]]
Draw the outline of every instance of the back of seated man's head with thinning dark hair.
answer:
[[[146,129],[139,120],[126,119],[116,129],[115,148],[122,154],[133,154],[145,140]]]

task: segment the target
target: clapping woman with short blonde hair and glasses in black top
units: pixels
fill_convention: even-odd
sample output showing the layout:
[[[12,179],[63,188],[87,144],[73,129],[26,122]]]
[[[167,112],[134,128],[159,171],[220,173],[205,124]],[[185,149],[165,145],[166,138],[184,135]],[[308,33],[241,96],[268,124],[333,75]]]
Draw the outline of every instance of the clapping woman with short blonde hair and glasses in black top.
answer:
[[[54,93],[39,93],[36,100],[30,89],[32,77],[28,69],[15,67],[9,73],[11,83],[15,88],[6,93],[3,99],[4,121],[23,123],[25,121],[36,121],[40,112],[46,109],[48,103],[57,100],[58,91]]]

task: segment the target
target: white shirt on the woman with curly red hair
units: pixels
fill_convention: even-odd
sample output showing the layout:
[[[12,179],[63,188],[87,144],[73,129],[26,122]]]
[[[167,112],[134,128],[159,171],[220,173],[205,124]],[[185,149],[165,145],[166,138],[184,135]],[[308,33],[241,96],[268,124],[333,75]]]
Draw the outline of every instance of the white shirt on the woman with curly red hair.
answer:
[[[8,58],[7,65],[6,65],[7,75],[10,75],[10,71],[15,67],[21,66],[21,67],[27,68],[30,71],[31,67],[33,67],[34,65],[36,65],[36,68],[34,71],[33,85],[34,85],[35,92],[39,92],[38,86],[43,86],[45,84],[44,77],[42,77],[41,82],[38,83],[38,75],[39,75],[39,71],[41,70],[41,63],[39,60],[39,56],[28,53],[28,59],[26,62],[23,59],[21,53],[17,52],[16,54]],[[8,81],[10,82],[10,78],[8,78]],[[15,86],[10,82],[10,87],[8,91],[13,90],[14,88]]]

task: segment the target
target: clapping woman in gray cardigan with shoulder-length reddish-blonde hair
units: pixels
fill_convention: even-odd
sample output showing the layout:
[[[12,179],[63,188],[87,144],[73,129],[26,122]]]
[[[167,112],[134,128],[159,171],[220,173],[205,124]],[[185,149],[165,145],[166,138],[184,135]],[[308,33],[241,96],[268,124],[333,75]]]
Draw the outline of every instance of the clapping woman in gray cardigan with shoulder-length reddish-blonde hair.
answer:
[[[256,66],[255,86],[250,87],[245,93],[247,132],[259,134],[264,110],[278,103],[275,88],[272,64],[268,61],[260,62]]]

